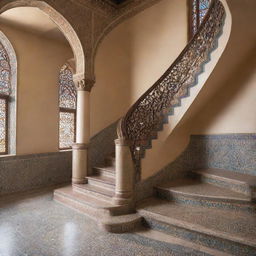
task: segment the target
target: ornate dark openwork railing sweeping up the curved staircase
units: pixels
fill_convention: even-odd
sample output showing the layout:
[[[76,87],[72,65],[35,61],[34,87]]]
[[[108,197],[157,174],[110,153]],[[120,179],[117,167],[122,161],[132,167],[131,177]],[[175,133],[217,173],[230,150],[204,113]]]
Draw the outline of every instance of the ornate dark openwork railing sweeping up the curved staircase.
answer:
[[[145,149],[157,135],[170,109],[187,93],[204,63],[214,49],[222,31],[225,9],[219,0],[213,0],[197,33],[189,41],[175,62],[149,88],[121,119],[118,137],[130,142],[130,150],[137,169]]]

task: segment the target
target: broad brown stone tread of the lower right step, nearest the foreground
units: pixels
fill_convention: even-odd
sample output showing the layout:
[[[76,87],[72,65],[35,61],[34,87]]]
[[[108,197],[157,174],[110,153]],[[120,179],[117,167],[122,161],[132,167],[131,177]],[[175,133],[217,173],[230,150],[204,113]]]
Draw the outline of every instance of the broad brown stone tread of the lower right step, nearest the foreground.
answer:
[[[256,247],[256,216],[149,198],[137,207],[144,217]]]

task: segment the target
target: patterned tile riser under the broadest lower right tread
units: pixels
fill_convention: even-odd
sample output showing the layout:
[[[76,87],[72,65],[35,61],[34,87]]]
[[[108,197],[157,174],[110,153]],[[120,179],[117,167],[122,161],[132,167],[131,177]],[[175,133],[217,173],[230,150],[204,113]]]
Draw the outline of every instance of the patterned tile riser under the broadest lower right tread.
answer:
[[[196,232],[193,230],[188,230],[182,227],[170,225],[167,223],[160,222],[158,220],[144,217],[143,224],[144,226],[170,234],[203,246],[207,246],[209,248],[217,249],[219,251],[231,253],[232,255],[241,256],[255,256],[256,248],[247,246],[244,244],[240,244],[234,241],[230,241],[227,239],[222,239],[216,236],[203,234],[200,232]]]

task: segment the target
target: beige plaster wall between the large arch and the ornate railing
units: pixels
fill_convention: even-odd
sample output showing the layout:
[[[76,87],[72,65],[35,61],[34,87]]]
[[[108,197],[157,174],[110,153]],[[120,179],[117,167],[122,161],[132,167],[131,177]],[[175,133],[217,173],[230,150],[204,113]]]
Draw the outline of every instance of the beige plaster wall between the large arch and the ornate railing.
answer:
[[[122,117],[179,55],[187,42],[186,2],[162,0],[104,39],[95,62],[91,135]]]

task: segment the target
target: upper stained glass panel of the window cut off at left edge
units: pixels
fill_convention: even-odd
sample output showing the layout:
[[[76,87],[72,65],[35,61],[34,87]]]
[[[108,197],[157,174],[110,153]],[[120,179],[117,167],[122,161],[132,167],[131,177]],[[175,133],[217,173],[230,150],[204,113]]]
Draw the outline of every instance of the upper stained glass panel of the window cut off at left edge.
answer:
[[[10,95],[11,92],[11,67],[9,57],[0,43],[0,94]]]

